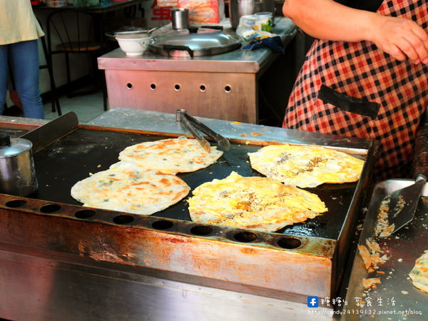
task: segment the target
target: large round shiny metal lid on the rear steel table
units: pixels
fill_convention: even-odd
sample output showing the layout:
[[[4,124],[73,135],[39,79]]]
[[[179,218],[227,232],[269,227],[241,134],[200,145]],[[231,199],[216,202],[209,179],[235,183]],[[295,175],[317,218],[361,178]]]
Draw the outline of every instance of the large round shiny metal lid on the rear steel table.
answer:
[[[192,51],[193,56],[210,56],[232,51],[239,46],[239,36],[215,29],[199,28],[173,30],[154,36],[149,48],[165,56],[170,56],[170,51]]]

